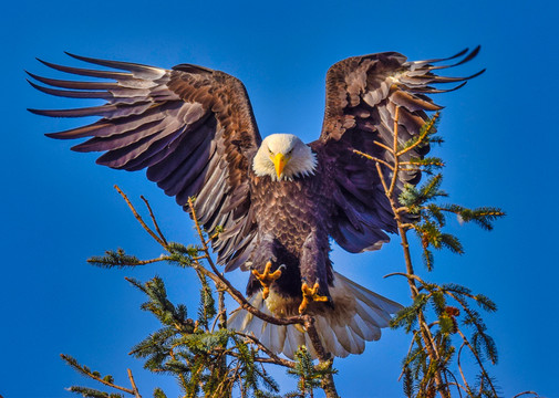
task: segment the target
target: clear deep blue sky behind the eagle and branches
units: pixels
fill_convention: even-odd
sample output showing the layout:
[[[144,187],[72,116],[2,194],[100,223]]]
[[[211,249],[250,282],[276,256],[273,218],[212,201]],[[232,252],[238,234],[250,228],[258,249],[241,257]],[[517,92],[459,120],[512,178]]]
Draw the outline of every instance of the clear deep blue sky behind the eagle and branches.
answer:
[[[381,51],[437,57],[482,44],[480,55],[455,73],[487,72],[437,98],[447,106],[441,124],[446,143],[437,154],[448,164],[444,188],[453,201],[498,206],[508,216],[490,233],[453,226],[466,254],[438,255],[435,271],[423,275],[465,284],[498,304],[486,320],[500,353],[490,371],[505,396],[531,389],[559,397],[558,11],[541,0],[4,4],[0,395],[72,396],[63,387],[84,379],[59,359],[66,353],[122,383],[131,367],[144,396],[156,385],[176,396],[173,380],[144,373],[126,354],[156,323],[138,311],[143,297],[124,276],[159,274],[172,297],[190,306],[198,296],[191,273],[166,265],[104,271],[85,264],[87,256],[117,247],[145,258],[159,254],[114,184],[133,198],[147,196],[170,239],[193,241],[191,224],[143,172],[95,166],[94,156],[71,153],[69,143],[43,136],[76,121],[39,117],[25,108],[75,102],[48,97],[25,83],[23,70],[46,72],[35,56],[77,65],[63,54],[70,51],[164,67],[218,69],[245,82],[262,135],[293,133],[310,142],[320,133],[324,75],[334,62]],[[382,279],[403,270],[397,239],[380,252],[350,255],[335,249],[332,256],[340,272],[408,302],[403,281]],[[238,285],[245,277],[232,275]],[[387,331],[363,355],[338,360],[341,395],[401,396],[396,378],[407,342],[403,333]]]

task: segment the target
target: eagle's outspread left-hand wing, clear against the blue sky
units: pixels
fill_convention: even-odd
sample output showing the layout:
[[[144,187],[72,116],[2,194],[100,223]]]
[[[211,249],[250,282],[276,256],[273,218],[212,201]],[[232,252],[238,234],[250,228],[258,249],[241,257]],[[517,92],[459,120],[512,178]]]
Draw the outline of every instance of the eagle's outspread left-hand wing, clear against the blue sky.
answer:
[[[30,109],[52,117],[101,117],[93,124],[48,136],[89,137],[72,149],[102,151],[97,164],[115,169],[146,168],[147,178],[185,209],[188,197],[195,196],[195,210],[205,228],[224,228],[214,241],[218,261],[234,265],[244,261],[245,249],[256,231],[248,171],[261,138],[242,83],[222,72],[190,64],[164,70],[71,56],[112,70],[41,62],[58,71],[110,82],[61,81],[30,74],[48,86],[30,84],[51,95],[101,98],[106,103],[74,109]]]

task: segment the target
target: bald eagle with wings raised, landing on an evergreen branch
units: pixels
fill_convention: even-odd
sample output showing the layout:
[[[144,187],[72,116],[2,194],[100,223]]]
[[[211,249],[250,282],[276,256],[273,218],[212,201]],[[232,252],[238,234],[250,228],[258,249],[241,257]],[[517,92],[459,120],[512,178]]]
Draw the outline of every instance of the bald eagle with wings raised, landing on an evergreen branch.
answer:
[[[30,74],[43,84],[30,81],[33,87],[106,103],[30,111],[52,117],[101,117],[46,135],[90,137],[72,149],[104,153],[97,164],[115,169],[147,169],[147,178],[185,210],[188,198],[196,197],[195,211],[206,230],[222,228],[213,241],[218,263],[226,271],[251,270],[251,303],[279,317],[313,315],[325,350],[344,357],[362,353],[365,341],[379,339],[391,314],[401,308],[334,272],[329,259],[330,238],[359,253],[380,249],[387,233],[396,232],[376,169],[353,149],[392,161],[382,144],[393,145],[396,107],[398,139],[404,143],[420,133],[426,112],[441,108],[428,94],[456,90],[475,76],[434,72],[463,64],[478,51],[415,62],[385,52],[335,63],[327,74],[322,132],[310,144],[291,134],[262,140],[242,83],[193,64],[166,70],[69,54],[108,67],[99,70],[41,61],[61,72],[104,81]],[[459,57],[454,64],[439,64]],[[437,83],[456,86],[442,90],[433,86]],[[417,147],[406,156],[422,157],[427,150]],[[390,170],[385,172],[390,178]],[[400,174],[396,193],[420,178],[415,170]],[[229,327],[255,333],[275,353],[292,358],[297,347],[307,344],[315,356],[307,334],[293,325],[270,325],[240,311]]]

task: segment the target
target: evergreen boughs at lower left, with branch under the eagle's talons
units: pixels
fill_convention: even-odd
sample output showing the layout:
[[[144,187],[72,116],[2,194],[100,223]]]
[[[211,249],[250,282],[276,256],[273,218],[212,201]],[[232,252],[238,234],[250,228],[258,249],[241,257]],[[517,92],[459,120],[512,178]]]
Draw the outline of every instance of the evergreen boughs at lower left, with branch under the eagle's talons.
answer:
[[[142,304],[143,311],[153,314],[161,328],[153,332],[136,344],[130,355],[144,362],[144,368],[154,374],[173,376],[184,397],[280,397],[279,386],[268,374],[265,364],[276,364],[288,369],[290,375],[299,378],[298,389],[291,397],[313,397],[314,389],[322,388],[328,397],[337,397],[332,375],[333,362],[321,346],[314,329],[314,321],[308,315],[275,318],[260,313],[237,291],[218,271],[209,253],[209,242],[215,237],[208,237],[201,229],[189,200],[190,210],[198,231],[200,244],[185,247],[180,243],[167,242],[153,214],[149,203],[142,198],[149,211],[153,228],[148,227],[131,203],[128,198],[116,187],[128,203],[134,216],[146,231],[165,249],[165,254],[151,260],[139,260],[128,255],[122,249],[107,251],[105,255],[92,256],[87,262],[101,268],[135,268],[139,265],[167,262],[183,269],[193,269],[199,282],[199,305],[195,317],[188,317],[187,307],[174,304],[167,296],[164,281],[155,276],[143,283],[135,279],[126,280],[146,296]],[[217,232],[219,233],[219,231]],[[296,360],[278,357],[263,346],[257,336],[247,335],[227,328],[227,311],[224,295],[228,293],[242,308],[255,316],[280,325],[300,324],[311,336],[314,350],[320,360],[314,363],[307,348],[300,347]],[[217,300],[216,300],[217,296]],[[62,355],[62,358],[82,375],[103,384],[120,392],[73,386],[69,390],[83,397],[142,397],[135,386],[132,373],[128,370],[131,388],[116,385],[112,376],[102,376],[92,371],[76,359]],[[153,391],[156,398],[167,397],[157,388]]]

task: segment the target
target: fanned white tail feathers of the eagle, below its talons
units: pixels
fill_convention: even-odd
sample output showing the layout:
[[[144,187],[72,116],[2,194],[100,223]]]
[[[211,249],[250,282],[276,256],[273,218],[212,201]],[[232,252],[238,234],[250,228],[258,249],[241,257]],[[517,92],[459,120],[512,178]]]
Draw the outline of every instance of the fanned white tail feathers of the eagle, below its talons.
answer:
[[[324,349],[338,357],[361,354],[365,342],[381,338],[381,328],[389,326],[391,314],[402,306],[334,272],[330,295],[334,308],[323,303],[310,303],[308,313],[314,316],[317,332]],[[300,302],[300,301],[299,301]],[[270,291],[265,301],[258,292],[250,297],[250,303],[261,312],[273,316],[297,315],[299,302],[283,298]],[[317,354],[307,333],[294,325],[272,325],[253,316],[245,310],[235,313],[228,327],[247,334],[253,334],[265,346],[276,354],[284,354],[293,359],[300,345],[306,345],[313,358]]]

